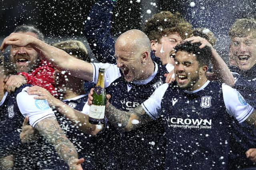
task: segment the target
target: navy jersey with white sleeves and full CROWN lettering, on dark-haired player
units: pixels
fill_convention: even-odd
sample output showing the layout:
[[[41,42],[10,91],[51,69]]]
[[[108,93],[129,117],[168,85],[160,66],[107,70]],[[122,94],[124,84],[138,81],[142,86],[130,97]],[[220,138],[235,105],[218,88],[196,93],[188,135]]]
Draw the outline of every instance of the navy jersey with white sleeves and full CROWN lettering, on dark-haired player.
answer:
[[[194,91],[164,84],[142,107],[164,123],[166,169],[192,170],[227,169],[231,125],[254,110],[235,89],[210,81]]]

